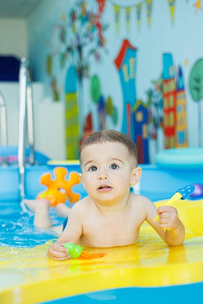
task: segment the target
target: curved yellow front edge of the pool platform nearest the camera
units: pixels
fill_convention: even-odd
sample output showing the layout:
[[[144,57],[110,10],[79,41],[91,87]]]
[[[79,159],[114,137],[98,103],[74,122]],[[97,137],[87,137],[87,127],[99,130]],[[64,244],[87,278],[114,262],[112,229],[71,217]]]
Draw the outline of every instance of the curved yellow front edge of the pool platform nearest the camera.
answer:
[[[187,265],[186,263],[159,265],[139,269],[128,267],[100,268],[8,288],[0,292],[0,303],[33,304],[105,289],[168,287],[202,281],[203,262]]]

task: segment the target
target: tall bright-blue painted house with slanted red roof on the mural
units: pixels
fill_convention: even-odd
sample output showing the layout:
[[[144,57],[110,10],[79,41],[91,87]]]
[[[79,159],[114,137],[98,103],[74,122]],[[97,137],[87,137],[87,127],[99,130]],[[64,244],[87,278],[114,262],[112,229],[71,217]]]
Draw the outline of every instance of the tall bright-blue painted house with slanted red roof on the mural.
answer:
[[[118,69],[123,92],[123,118],[121,132],[135,140],[135,116],[132,108],[136,101],[135,68],[137,49],[128,39],[123,40],[118,56],[114,60]]]

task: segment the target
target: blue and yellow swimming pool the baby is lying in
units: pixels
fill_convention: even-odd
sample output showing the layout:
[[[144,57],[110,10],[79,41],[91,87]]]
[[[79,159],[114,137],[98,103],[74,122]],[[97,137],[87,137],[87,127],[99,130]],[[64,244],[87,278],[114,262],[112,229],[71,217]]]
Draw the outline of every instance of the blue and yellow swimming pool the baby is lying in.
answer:
[[[53,170],[51,167],[34,169],[29,169],[26,173],[29,181],[26,192],[30,194],[30,198],[41,190],[38,177],[42,171]],[[188,179],[194,176],[193,182],[201,182],[200,178],[203,178],[198,174],[193,176],[191,172],[186,175],[179,171],[177,175],[176,172],[170,174],[166,170],[155,169],[157,168],[153,166],[146,168],[143,179],[146,182],[148,178],[149,194],[155,197],[157,192],[158,198],[158,190],[150,190],[154,179],[162,180],[165,176],[165,181],[172,181],[176,185],[179,178],[176,186],[178,189],[189,184],[191,180]],[[15,175],[15,172],[11,171],[10,174]],[[183,180],[180,179],[181,174]],[[170,184],[172,195],[173,183]],[[164,181],[162,185],[160,192],[162,195],[164,193],[162,198],[166,198],[170,187],[167,188]],[[140,186],[140,191],[145,191],[142,183]],[[13,190],[15,189],[13,183]],[[147,304],[163,299],[165,303],[202,300],[203,200],[179,201],[175,205],[186,227],[183,246],[168,247],[144,223],[140,240],[134,245],[107,248],[107,255],[101,259],[58,262],[46,257],[48,246],[56,236],[51,230],[44,233],[35,229],[32,214],[23,212],[20,201],[12,199],[11,194],[14,195],[15,191],[8,192],[9,200],[0,202],[0,303],[64,304],[74,301],[76,304],[120,304],[128,300]],[[157,204],[159,203],[164,202]],[[54,208],[50,212],[55,224],[63,221],[56,217]],[[93,251],[91,248],[85,250]]]

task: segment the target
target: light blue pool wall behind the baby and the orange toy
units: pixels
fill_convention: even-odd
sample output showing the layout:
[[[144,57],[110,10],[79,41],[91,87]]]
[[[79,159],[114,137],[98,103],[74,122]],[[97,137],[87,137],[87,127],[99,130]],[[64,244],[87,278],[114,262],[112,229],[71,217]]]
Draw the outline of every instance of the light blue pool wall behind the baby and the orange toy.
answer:
[[[25,167],[25,198],[35,199],[37,194],[44,191],[47,187],[40,184],[40,177],[44,173],[50,172],[55,178],[55,166],[26,166]],[[79,164],[60,165],[68,169],[67,179],[69,173],[72,171],[80,172]],[[200,168],[162,168],[157,165],[140,165],[143,169],[141,181],[137,192],[141,195],[147,196],[153,202],[170,198],[176,190],[186,185],[203,184],[203,169]],[[74,192],[80,193],[81,198],[87,193],[83,186],[73,186]],[[1,166],[0,167],[0,201],[21,201],[19,193],[19,174],[18,166]]]

